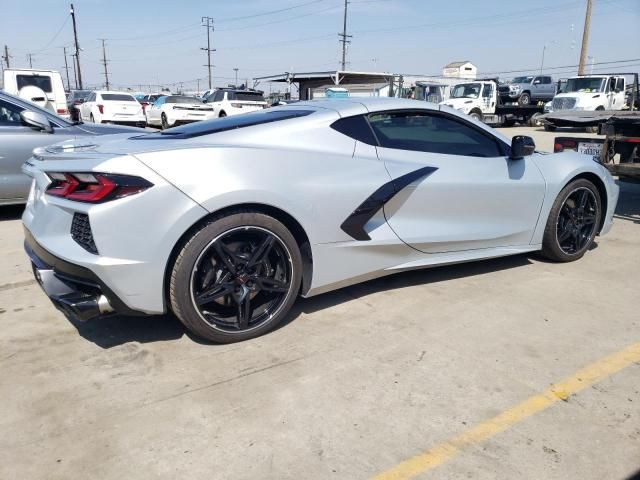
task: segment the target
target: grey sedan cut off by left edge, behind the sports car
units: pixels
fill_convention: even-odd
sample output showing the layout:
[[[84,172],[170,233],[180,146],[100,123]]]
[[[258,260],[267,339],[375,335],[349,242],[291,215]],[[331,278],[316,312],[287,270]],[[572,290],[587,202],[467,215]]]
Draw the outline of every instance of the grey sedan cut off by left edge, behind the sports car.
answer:
[[[131,127],[71,123],[0,92],[0,205],[26,203],[31,179],[20,170],[36,147],[84,136],[140,132]]]

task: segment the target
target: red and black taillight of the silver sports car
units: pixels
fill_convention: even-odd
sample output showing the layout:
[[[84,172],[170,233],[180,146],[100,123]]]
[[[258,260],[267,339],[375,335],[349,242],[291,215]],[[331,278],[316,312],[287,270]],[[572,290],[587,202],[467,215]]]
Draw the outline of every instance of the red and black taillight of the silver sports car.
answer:
[[[110,173],[47,172],[46,193],[77,202],[101,203],[142,192],[153,186],[144,178]]]

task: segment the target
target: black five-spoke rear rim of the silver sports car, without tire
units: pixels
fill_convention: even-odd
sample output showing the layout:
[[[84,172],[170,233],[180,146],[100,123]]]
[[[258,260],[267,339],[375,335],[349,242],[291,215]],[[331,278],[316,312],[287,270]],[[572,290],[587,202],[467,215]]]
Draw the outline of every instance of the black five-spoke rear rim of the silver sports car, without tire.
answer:
[[[225,333],[258,329],[292,295],[291,252],[258,226],[228,230],[198,256],[191,274],[193,306],[211,328]]]

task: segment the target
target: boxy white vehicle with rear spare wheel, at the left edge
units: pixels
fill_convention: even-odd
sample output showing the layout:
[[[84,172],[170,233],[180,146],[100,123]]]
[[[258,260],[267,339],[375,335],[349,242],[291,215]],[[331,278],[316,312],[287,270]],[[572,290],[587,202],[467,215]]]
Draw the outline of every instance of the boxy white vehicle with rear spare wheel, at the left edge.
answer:
[[[3,77],[4,90],[24,100],[69,117],[67,96],[60,72],[29,68],[7,68]]]

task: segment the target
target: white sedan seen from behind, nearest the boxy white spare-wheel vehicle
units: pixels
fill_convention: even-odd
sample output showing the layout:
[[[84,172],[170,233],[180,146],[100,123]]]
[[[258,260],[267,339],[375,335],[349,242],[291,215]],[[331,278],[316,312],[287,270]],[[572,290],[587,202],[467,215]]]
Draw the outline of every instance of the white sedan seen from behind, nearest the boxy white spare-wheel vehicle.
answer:
[[[146,123],[142,105],[126,92],[91,92],[80,105],[80,121],[93,123],[116,123],[143,127]]]

